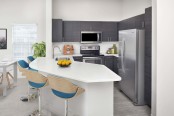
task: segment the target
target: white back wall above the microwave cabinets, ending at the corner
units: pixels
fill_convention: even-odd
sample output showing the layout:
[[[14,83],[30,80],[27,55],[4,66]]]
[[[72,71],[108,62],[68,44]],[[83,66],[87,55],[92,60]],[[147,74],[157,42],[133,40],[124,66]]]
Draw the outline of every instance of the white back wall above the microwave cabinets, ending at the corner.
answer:
[[[53,0],[53,18],[119,21],[122,0]]]

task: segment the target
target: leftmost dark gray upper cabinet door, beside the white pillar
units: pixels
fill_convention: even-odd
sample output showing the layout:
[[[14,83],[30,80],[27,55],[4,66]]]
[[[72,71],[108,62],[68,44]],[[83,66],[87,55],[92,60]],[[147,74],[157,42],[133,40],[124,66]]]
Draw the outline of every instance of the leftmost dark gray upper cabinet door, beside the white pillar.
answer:
[[[52,20],[52,42],[62,42],[62,19],[53,19]]]

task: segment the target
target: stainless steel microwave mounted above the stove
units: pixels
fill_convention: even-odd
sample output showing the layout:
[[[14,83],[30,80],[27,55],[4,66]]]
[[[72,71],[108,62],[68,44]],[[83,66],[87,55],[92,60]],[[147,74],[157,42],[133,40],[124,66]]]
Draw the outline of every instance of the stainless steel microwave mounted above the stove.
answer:
[[[102,42],[101,31],[81,31],[81,43],[100,43]]]

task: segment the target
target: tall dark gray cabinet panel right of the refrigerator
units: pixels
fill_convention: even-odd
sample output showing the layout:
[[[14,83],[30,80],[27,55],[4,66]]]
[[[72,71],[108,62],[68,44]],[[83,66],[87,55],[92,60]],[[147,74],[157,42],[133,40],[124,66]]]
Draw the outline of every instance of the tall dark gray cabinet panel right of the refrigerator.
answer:
[[[152,95],[152,8],[145,10],[145,101],[151,106]]]

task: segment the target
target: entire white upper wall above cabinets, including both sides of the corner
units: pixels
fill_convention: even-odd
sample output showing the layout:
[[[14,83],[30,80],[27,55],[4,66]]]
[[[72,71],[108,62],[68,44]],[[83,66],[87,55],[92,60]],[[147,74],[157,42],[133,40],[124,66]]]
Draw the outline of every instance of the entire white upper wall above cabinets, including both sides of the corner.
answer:
[[[53,0],[53,18],[120,21],[145,12],[151,0]]]

